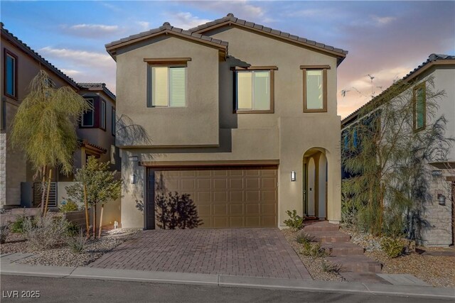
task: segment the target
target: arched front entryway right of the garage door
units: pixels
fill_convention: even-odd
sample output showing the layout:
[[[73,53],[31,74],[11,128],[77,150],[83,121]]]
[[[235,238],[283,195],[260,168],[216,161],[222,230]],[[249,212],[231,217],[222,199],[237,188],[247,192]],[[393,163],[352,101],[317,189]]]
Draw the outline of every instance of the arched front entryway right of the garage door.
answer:
[[[328,162],[324,148],[310,148],[303,157],[304,214],[310,219],[327,218]]]

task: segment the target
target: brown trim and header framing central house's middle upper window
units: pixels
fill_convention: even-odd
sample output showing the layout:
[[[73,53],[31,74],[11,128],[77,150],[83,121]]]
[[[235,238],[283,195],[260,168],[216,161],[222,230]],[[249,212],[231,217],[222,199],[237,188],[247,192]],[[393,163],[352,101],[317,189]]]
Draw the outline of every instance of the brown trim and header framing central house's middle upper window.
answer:
[[[233,104],[232,114],[274,114],[275,112],[275,70],[276,66],[250,66],[250,67],[231,67],[233,80]],[[270,108],[269,109],[237,109],[237,72],[268,71],[270,75]]]

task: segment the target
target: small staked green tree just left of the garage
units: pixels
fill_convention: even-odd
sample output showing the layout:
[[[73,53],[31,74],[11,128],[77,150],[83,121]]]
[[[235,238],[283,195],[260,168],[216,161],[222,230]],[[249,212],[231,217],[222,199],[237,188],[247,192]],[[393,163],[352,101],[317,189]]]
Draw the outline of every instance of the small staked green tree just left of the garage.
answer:
[[[87,236],[89,233],[87,206],[92,206],[94,238],[96,238],[97,228],[97,205],[101,204],[100,228],[98,231],[98,237],[100,237],[102,214],[105,204],[109,201],[119,199],[122,194],[122,180],[115,180],[117,172],[109,171],[109,164],[109,161],[100,162],[97,158],[90,156],[85,167],[77,169],[75,173],[75,184],[65,187],[70,199],[85,204]]]

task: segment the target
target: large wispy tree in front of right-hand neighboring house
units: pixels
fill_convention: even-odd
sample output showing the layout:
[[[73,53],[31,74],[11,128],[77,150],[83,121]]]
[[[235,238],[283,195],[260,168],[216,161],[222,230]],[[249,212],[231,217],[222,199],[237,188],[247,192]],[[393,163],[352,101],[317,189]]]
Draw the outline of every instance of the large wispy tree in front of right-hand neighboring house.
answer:
[[[357,210],[358,228],[387,236],[407,231],[414,238],[414,221],[429,199],[427,164],[444,161],[451,146],[444,136],[446,119],[435,116],[443,96],[432,78],[419,85],[395,82],[364,106],[343,133],[351,138],[342,151],[351,177],[343,181],[342,191]]]

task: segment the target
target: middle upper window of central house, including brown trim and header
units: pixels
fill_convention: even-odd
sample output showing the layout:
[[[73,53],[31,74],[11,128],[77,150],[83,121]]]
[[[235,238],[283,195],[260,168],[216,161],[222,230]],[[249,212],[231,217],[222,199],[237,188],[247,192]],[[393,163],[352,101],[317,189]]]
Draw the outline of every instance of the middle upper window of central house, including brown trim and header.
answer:
[[[277,67],[237,67],[235,70],[235,112],[274,112],[274,70]]]

